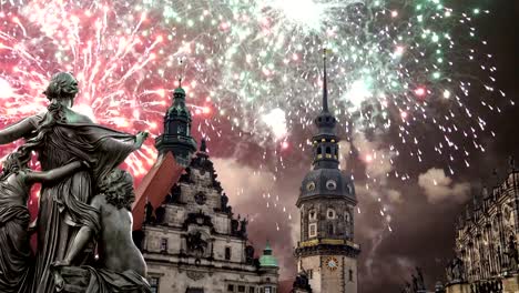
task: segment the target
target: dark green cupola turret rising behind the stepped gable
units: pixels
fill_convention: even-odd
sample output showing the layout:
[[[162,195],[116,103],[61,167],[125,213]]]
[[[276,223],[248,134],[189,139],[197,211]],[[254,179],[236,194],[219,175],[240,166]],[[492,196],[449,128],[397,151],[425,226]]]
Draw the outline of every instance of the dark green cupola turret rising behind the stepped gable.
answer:
[[[173,104],[164,115],[164,133],[156,138],[159,155],[172,152],[181,165],[189,165],[196,151],[196,141],[191,137],[191,112],[185,105],[185,91],[179,80],[179,88],[173,92]]]

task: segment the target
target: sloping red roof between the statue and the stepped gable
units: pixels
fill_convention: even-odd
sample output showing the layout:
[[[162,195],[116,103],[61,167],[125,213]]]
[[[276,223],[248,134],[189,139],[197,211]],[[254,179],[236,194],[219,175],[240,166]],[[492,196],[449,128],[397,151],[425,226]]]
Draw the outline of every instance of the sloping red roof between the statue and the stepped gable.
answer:
[[[183,172],[184,168],[176,163],[171,152],[159,156],[155,164],[135,190],[135,202],[132,206],[133,230],[141,229],[144,222],[144,206],[146,200],[150,201],[154,208],[159,206]]]

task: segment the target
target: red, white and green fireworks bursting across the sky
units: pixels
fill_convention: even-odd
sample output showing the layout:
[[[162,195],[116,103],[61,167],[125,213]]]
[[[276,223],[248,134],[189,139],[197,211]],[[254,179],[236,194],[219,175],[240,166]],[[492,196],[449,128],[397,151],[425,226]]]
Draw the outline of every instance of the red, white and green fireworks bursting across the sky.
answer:
[[[304,151],[307,138],[287,141],[313,131],[323,48],[330,51],[330,108],[348,141],[358,132],[376,135],[391,153],[420,162],[437,152],[452,170],[452,160],[467,162],[470,153],[461,142],[485,150],[485,117],[500,112],[492,57],[475,49],[486,46],[474,27],[474,18],[488,13],[479,8],[457,11],[442,0],[2,3],[3,123],[41,110],[50,75],[69,70],[80,82],[79,111],[156,135],[182,75],[202,134],[252,133],[266,151]],[[479,88],[488,94],[474,97]],[[485,111],[472,110],[478,103]],[[222,133],[222,125],[235,133]],[[154,158],[150,141],[128,164],[139,176]],[[276,160],[275,170],[279,161],[284,168]]]

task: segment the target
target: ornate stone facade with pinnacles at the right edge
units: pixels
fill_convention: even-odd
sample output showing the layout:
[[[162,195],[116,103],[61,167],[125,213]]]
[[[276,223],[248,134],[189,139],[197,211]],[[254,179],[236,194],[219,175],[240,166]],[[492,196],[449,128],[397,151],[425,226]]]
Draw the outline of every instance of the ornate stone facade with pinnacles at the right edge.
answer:
[[[456,224],[456,255],[447,267],[449,282],[501,281],[518,273],[519,170],[510,159],[505,178],[495,172]],[[457,270],[452,270],[457,269]],[[519,289],[517,289],[519,290]]]

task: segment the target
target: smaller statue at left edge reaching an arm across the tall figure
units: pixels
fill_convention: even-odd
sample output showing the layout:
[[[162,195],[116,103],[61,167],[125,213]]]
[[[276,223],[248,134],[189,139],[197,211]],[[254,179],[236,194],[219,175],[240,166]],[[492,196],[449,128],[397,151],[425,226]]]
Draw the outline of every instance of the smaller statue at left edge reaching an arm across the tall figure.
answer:
[[[71,175],[82,164],[77,161],[64,166],[34,172],[30,158],[13,152],[2,162],[0,174],[0,292],[30,293],[33,255],[29,244],[29,210],[27,200],[33,183],[50,183]]]

